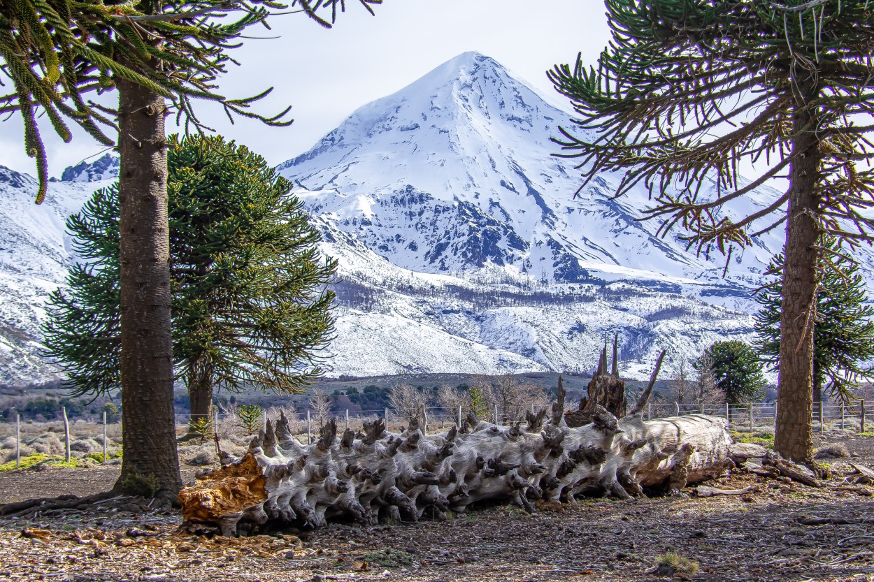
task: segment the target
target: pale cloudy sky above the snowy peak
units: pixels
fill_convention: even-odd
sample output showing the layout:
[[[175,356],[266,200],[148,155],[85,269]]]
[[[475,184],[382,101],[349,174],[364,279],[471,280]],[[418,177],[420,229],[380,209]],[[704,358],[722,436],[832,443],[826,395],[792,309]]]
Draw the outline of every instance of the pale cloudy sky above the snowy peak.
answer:
[[[572,63],[578,52],[593,64],[608,40],[600,0],[385,0],[374,6],[376,17],[357,0],[346,4],[347,12],[330,31],[299,14],[274,17],[273,31],[257,26],[246,35],[280,38],[246,39],[246,45],[232,51],[241,66],[229,66],[221,82],[225,95],[245,97],[273,86],[274,93],[254,107],[261,114],[275,114],[291,105],[291,127],[269,128],[247,119],[231,125],[220,108],[204,102],[197,109],[201,119],[269,163],[281,163],[307,151],[358,107],[468,51],[496,59],[567,108],[546,79],[546,70]],[[51,176],[104,149],[81,131],[73,142],[61,142],[45,120],[40,130]],[[17,115],[0,121],[0,165],[35,176],[23,134]]]

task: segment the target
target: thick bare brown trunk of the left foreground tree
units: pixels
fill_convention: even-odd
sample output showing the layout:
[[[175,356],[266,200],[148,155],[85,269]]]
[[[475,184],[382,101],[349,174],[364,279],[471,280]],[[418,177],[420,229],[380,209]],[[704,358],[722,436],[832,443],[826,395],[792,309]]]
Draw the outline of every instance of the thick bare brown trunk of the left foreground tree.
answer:
[[[121,435],[116,488],[182,486],[173,417],[166,104],[116,77],[121,232]]]

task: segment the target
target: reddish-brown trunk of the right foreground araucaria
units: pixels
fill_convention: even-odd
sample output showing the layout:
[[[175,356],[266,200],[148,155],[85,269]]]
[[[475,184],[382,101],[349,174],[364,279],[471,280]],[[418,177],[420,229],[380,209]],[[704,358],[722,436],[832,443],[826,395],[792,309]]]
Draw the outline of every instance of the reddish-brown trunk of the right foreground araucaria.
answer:
[[[812,94],[813,92],[811,92]],[[801,106],[797,106],[800,107]],[[796,110],[789,170],[786,261],[780,316],[780,378],[774,450],[793,461],[813,461],[813,361],[819,239],[819,140],[811,113]]]

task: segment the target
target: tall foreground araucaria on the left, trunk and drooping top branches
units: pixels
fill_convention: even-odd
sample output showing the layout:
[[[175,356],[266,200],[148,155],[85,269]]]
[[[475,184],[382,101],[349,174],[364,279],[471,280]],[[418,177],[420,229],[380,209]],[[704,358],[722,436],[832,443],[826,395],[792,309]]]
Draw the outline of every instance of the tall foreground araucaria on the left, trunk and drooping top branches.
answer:
[[[370,4],[381,2],[359,1],[371,13]],[[337,9],[345,9],[343,0],[289,4],[327,27]],[[269,91],[233,100],[217,90],[218,76],[233,62],[228,52],[243,32],[266,25],[271,10],[286,8],[270,0],[0,1],[0,73],[14,89],[0,96],[0,113],[22,115],[25,149],[37,158],[37,202],[48,177],[38,114],[45,112],[65,141],[72,138],[65,118],[108,145],[114,140],[101,128],[119,135],[124,457],[117,488],[141,478],[169,493],[182,484],[173,419],[167,100],[186,127],[203,127],[192,110],[196,99],[217,101],[229,115],[288,125],[288,109],[270,118],[248,110]],[[330,22],[317,14],[322,10],[329,10]],[[236,20],[226,22],[229,16]],[[117,109],[84,97],[110,88],[118,90]]]

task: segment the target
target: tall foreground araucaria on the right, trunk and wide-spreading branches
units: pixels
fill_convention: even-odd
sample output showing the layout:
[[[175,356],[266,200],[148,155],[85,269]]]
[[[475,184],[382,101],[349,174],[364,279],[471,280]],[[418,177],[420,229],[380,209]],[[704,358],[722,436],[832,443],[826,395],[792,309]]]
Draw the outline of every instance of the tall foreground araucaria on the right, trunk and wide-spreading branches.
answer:
[[[698,251],[728,253],[786,223],[774,449],[812,459],[811,391],[819,237],[871,239],[874,18],[866,0],[607,0],[613,40],[591,69],[557,66],[579,135],[563,156],[584,185],[621,172],[646,216],[677,225]],[[739,176],[754,163],[752,182]],[[779,181],[787,178],[786,181]],[[786,184],[730,218],[724,204]],[[715,184],[716,193],[705,187]],[[762,192],[759,192],[762,196]],[[760,198],[761,199],[761,198]],[[727,265],[727,263],[726,263]]]

